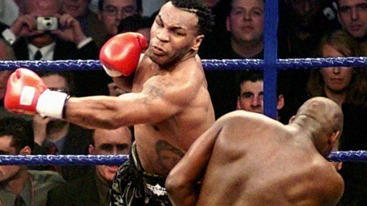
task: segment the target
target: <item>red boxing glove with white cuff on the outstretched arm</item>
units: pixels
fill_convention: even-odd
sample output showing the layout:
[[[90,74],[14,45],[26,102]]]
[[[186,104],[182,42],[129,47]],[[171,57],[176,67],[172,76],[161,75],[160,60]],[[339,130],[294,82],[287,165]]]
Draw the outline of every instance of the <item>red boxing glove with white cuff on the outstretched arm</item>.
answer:
[[[40,114],[62,118],[66,93],[50,91],[43,80],[29,69],[17,69],[9,77],[5,108],[13,113]]]

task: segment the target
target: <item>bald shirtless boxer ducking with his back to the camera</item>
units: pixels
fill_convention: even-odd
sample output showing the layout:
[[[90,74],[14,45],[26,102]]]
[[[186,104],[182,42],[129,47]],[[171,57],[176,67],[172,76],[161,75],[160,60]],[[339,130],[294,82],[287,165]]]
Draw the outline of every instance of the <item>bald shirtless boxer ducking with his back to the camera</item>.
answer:
[[[174,206],[333,206],[344,181],[325,157],[342,126],[340,107],[323,97],[306,101],[288,125],[226,114],[171,170],[168,196]]]

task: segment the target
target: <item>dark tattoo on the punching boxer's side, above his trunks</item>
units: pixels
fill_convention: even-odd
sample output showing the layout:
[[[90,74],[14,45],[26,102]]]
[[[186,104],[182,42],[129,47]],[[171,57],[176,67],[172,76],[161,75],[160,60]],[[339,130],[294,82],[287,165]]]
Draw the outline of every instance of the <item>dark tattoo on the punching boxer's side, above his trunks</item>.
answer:
[[[181,150],[165,140],[157,141],[155,148],[158,155],[157,163],[167,174],[184,155]]]

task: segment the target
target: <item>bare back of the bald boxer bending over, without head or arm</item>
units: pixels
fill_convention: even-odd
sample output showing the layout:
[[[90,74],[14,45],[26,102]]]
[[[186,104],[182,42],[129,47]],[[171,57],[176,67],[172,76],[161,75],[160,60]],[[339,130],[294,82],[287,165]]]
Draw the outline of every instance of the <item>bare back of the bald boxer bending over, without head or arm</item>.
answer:
[[[235,113],[218,134],[197,206],[337,203],[343,180],[309,138],[263,115]]]

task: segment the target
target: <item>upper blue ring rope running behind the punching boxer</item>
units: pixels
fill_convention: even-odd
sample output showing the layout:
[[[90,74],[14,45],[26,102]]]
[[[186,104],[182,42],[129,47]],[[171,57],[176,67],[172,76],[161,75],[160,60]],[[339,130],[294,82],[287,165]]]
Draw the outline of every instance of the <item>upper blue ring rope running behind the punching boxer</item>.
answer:
[[[215,70],[261,70],[264,60],[261,59],[203,59],[203,67],[207,71]],[[315,69],[320,67],[367,67],[367,57],[337,57],[337,58],[305,58],[278,59],[277,70]],[[16,70],[19,67],[31,70],[80,71],[101,70],[99,60],[42,60],[42,61],[0,61],[0,70]]]

